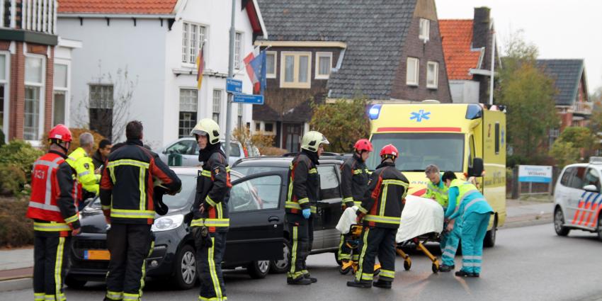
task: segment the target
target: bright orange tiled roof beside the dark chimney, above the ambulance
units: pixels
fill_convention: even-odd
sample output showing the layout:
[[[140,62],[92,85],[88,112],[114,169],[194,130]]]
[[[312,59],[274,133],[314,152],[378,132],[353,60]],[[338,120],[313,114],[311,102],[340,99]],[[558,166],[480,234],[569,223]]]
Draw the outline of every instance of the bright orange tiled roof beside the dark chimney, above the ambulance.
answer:
[[[472,51],[472,20],[439,20],[443,39],[443,55],[448,79],[472,79],[471,68],[477,68],[480,51]]]

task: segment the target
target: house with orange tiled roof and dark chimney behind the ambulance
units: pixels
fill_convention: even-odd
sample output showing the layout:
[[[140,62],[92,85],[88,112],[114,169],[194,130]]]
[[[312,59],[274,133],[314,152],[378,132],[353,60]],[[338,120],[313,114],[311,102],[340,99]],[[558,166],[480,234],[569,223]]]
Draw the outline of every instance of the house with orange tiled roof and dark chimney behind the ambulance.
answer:
[[[443,53],[454,103],[489,103],[494,23],[489,8],[475,8],[473,19],[440,20]],[[498,51],[495,68],[501,67]]]

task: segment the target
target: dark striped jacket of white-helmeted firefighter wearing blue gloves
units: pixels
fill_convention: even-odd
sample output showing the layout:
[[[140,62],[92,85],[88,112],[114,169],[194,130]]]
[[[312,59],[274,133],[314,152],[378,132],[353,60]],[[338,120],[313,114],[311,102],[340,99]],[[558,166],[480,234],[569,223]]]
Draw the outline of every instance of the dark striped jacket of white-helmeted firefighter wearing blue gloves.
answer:
[[[316,213],[320,178],[317,166],[312,159],[300,152],[290,163],[285,211],[302,215],[302,210],[310,208]]]

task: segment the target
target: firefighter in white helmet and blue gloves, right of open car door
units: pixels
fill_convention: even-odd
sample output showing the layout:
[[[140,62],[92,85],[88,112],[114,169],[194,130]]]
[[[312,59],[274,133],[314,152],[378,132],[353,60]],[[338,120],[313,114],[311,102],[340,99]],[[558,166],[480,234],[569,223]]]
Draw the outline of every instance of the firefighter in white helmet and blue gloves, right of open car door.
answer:
[[[285,203],[286,221],[291,251],[288,256],[290,269],[286,274],[286,283],[309,285],[317,279],[309,275],[305,261],[312,249],[314,226],[312,215],[320,189],[317,165],[324,145],[330,144],[320,132],[310,131],[303,135],[301,152],[290,163],[288,171],[289,186]]]

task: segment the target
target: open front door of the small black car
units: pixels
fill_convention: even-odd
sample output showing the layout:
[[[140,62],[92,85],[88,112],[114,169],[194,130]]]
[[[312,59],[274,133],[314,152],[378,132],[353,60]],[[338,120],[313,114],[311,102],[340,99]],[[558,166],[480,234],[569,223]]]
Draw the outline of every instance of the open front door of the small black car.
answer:
[[[285,171],[246,176],[232,183],[225,261],[283,259]]]

